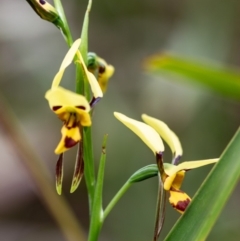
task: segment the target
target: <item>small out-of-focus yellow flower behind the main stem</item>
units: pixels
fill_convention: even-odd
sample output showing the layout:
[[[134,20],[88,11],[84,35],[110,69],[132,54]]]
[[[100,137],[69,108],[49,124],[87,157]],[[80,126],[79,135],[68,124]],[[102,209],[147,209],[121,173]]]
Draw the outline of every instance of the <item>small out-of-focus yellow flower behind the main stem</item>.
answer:
[[[88,70],[97,76],[98,84],[103,93],[106,92],[108,81],[114,74],[114,67],[98,57],[95,53],[88,53]]]

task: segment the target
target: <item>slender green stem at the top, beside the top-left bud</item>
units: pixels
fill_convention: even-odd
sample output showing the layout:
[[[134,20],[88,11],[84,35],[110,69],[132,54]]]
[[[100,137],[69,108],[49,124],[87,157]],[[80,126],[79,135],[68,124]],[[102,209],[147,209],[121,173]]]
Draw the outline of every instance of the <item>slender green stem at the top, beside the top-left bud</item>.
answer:
[[[72,34],[68,26],[67,18],[65,16],[61,0],[53,0],[53,1],[54,1],[55,8],[63,22],[63,27],[61,28],[62,34],[68,46],[70,47],[73,43]]]

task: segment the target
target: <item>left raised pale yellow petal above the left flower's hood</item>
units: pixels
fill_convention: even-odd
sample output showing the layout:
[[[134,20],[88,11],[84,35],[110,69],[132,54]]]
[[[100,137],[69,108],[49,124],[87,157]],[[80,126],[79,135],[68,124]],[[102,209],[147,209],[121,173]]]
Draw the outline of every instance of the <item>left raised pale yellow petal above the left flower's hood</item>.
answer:
[[[62,76],[64,74],[65,69],[72,63],[73,58],[75,54],[78,51],[78,48],[80,46],[81,39],[77,39],[71,46],[71,48],[68,50],[66,56],[63,59],[63,62],[60,66],[59,71],[55,75],[53,82],[52,82],[52,88],[59,86],[60,81],[62,79]]]

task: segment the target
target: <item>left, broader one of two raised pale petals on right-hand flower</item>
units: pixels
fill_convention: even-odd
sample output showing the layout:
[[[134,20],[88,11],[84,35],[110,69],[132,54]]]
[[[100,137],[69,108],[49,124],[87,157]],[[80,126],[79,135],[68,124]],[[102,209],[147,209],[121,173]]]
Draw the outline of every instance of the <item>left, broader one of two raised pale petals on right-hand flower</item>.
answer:
[[[139,136],[155,155],[164,151],[162,139],[152,127],[118,112],[114,112],[114,116]]]

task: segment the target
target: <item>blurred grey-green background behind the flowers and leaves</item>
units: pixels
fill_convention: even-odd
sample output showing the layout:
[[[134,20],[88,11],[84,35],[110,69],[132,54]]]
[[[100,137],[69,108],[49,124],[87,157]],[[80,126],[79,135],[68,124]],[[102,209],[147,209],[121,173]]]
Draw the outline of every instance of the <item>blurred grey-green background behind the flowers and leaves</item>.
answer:
[[[63,0],[62,3],[73,36],[78,38],[87,1]],[[113,117],[113,111],[139,120],[142,113],[147,113],[167,122],[182,142],[182,160],[220,156],[239,126],[240,103],[198,85],[178,82],[177,78],[147,74],[143,71],[143,60],[151,54],[170,51],[206,63],[238,67],[239,7],[237,0],[93,1],[89,50],[116,68],[93,119],[96,165],[103,135],[109,134],[105,206],[134,171],[155,162],[151,151]],[[58,29],[42,21],[26,1],[2,0],[0,49],[1,95],[8,100],[28,140],[52,173],[54,186],[57,157],[53,150],[60,138],[61,123],[49,110],[44,94],[67,46]],[[63,85],[74,88],[73,66],[67,70]],[[1,240],[65,240],[1,126],[0,153]],[[76,149],[65,155],[63,192],[87,230],[84,181],[74,194],[69,194],[75,154]],[[170,160],[170,150],[166,148],[165,161]],[[193,196],[210,169],[203,167],[188,172],[182,189]],[[227,173],[222,178],[228,178]],[[239,240],[239,192],[238,185],[208,240]],[[156,194],[156,178],[135,184],[106,219],[100,241],[151,240]],[[167,204],[160,240],[178,217]]]

